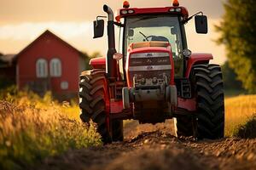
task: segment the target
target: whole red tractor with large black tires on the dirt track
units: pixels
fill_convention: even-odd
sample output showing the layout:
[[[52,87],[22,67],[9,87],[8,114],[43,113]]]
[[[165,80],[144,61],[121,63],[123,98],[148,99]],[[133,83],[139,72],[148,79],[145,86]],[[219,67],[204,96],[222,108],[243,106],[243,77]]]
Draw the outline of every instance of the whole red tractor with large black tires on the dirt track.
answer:
[[[83,122],[97,124],[104,143],[122,141],[123,120],[140,123],[174,118],[177,137],[224,137],[224,83],[212,54],[192,54],[184,25],[195,17],[197,33],[207,33],[207,16],[189,17],[174,0],[172,7],[130,8],[125,1],[115,17],[108,14],[108,54],[90,60],[79,83]],[[104,16],[94,21],[94,38],[102,37]],[[107,17],[104,17],[107,18]],[[119,53],[114,27],[119,29]],[[199,44],[200,45],[200,44]]]

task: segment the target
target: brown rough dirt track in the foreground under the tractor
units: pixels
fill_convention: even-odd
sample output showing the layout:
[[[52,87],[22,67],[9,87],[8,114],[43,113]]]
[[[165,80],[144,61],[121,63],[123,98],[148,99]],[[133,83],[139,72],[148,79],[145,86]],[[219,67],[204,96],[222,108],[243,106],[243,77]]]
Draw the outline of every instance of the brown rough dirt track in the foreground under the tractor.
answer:
[[[155,126],[131,122],[125,127],[125,142],[71,150],[37,169],[256,169],[256,139],[194,142],[175,138],[172,127],[172,121]]]

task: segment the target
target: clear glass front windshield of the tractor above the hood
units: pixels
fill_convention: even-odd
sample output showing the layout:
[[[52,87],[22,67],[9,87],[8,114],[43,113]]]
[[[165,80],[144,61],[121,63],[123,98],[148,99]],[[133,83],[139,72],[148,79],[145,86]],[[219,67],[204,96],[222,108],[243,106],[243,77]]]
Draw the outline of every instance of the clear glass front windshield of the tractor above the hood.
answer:
[[[178,17],[170,14],[139,15],[125,21],[125,52],[132,42],[170,42],[176,76],[183,74],[183,43]],[[126,53],[124,54],[126,58]]]

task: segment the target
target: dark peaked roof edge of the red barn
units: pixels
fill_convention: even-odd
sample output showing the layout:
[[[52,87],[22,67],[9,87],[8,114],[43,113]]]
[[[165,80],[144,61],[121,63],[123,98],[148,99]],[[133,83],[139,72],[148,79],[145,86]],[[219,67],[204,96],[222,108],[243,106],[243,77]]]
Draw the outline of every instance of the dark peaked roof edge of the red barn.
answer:
[[[19,58],[19,56],[20,56],[21,54],[25,53],[26,50],[29,49],[29,48],[31,48],[32,45],[33,45],[35,42],[38,42],[42,37],[44,37],[44,36],[47,35],[47,34],[49,34],[50,36],[55,37],[55,38],[58,39],[60,42],[66,44],[68,48],[72,48],[73,50],[77,51],[77,52],[80,54],[80,56],[82,56],[82,52],[80,52],[77,48],[74,48],[74,47],[73,47],[72,45],[70,45],[68,42],[65,42],[64,40],[61,39],[61,37],[56,36],[56,35],[55,35],[54,33],[52,33],[51,31],[46,30],[46,31],[44,31],[43,34],[41,34],[38,38],[36,38],[33,42],[31,42],[28,46],[26,46],[26,48],[22,49],[19,54],[16,54],[16,55],[15,55],[15,59]]]

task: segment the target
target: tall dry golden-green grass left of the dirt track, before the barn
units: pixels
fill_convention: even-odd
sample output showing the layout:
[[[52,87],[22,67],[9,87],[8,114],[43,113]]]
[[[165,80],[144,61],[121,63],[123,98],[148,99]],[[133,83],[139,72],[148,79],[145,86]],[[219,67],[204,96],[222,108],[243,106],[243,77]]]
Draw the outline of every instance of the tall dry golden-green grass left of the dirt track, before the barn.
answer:
[[[0,169],[26,169],[47,156],[102,144],[95,125],[84,125],[78,113],[78,106],[57,104],[50,94],[0,100]]]

